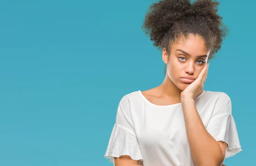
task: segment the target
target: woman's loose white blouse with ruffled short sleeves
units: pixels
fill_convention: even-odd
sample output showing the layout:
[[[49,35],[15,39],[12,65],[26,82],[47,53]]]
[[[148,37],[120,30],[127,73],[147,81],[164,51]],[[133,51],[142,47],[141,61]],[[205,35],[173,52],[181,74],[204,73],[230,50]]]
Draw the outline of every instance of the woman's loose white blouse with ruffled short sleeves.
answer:
[[[195,105],[204,126],[216,141],[228,144],[226,158],[241,151],[231,100],[224,92],[203,91]],[[141,91],[122,97],[106,158],[129,155],[144,166],[196,166],[186,135],[181,103],[157,106]]]

